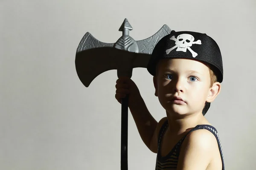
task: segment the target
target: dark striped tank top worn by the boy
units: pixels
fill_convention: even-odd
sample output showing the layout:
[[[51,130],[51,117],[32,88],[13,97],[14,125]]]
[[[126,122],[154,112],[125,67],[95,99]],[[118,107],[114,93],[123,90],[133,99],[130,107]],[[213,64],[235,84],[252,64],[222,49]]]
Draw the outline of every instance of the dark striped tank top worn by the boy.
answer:
[[[163,126],[161,127],[160,132],[159,132],[157,161],[156,161],[155,170],[176,170],[177,164],[178,164],[178,159],[179,159],[180,145],[182,144],[183,140],[189,133],[191,133],[194,130],[198,130],[198,129],[207,129],[210,132],[212,132],[212,134],[216,137],[217,142],[218,142],[218,147],[219,147],[219,150],[221,153],[222,170],[225,170],[221,141],[219,139],[218,132],[215,129],[215,127],[213,127],[211,125],[197,125],[192,130],[189,130],[189,132],[182,139],[180,139],[180,141],[177,142],[177,144],[175,144],[175,146],[172,148],[172,150],[169,152],[169,154],[162,157],[160,154],[160,150],[161,150],[162,138],[163,138],[163,135],[164,135],[167,127],[168,127],[168,120],[166,120],[166,122],[163,123]]]

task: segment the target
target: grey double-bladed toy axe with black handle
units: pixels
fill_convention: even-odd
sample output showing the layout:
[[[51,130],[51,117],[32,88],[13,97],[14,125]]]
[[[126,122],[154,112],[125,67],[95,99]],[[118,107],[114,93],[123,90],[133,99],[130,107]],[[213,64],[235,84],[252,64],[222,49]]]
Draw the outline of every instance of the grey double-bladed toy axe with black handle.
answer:
[[[150,55],[157,42],[171,33],[164,25],[153,36],[135,41],[129,36],[132,30],[125,18],[119,31],[122,31],[116,43],[105,43],[94,38],[87,32],[81,39],[76,51],[76,72],[85,87],[99,74],[108,70],[117,70],[117,77],[132,76],[133,68],[147,68]],[[128,170],[128,96],[121,102],[121,170]]]

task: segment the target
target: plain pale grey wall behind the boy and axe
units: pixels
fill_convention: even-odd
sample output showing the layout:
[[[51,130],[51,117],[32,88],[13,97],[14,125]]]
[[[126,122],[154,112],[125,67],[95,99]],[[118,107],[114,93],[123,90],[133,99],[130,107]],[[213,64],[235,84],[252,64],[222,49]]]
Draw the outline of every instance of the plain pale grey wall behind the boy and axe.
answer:
[[[125,18],[135,40],[167,24],[207,33],[218,43],[224,81],[206,117],[220,134],[226,169],[253,170],[255,0],[0,0],[0,169],[120,169],[116,71],[85,88],[75,54],[87,31],[116,42]],[[132,79],[160,120],[165,112],[151,75],[136,68]],[[156,154],[143,144],[130,113],[128,134],[129,170],[153,170]]]

